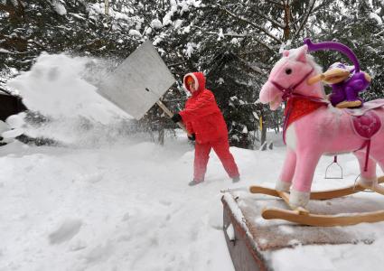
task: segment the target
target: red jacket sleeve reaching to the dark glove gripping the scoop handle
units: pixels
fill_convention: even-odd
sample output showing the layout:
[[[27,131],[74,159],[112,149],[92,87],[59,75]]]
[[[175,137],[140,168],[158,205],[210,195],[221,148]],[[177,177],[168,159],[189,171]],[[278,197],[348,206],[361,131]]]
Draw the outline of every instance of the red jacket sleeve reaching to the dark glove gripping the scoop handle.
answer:
[[[179,114],[183,118],[183,123],[195,121],[199,117],[204,117],[220,111],[217,107],[215,97],[209,90],[203,90],[199,97],[193,103],[187,103],[185,109]]]

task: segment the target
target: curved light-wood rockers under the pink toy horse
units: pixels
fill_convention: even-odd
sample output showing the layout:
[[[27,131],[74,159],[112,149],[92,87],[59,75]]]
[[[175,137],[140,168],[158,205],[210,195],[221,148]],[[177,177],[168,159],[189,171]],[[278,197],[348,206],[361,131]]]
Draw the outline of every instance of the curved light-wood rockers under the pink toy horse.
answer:
[[[378,183],[384,182],[384,176],[378,179]],[[329,200],[339,198],[347,195],[351,195],[356,192],[362,192],[364,190],[371,190],[384,195],[384,188],[381,186],[368,187],[361,184],[352,185],[342,189],[328,190],[323,192],[311,192],[311,200]],[[262,217],[266,220],[287,220],[302,225],[308,226],[320,226],[320,227],[332,227],[332,226],[348,226],[356,225],[362,222],[379,222],[384,220],[384,210],[352,213],[343,215],[326,215],[326,214],[314,214],[304,208],[293,208],[289,204],[289,194],[287,192],[279,192],[274,189],[253,185],[249,187],[249,191],[252,193],[267,194],[275,196],[286,201],[286,204],[292,210],[285,210],[279,208],[266,208],[262,211]]]

